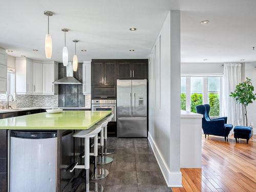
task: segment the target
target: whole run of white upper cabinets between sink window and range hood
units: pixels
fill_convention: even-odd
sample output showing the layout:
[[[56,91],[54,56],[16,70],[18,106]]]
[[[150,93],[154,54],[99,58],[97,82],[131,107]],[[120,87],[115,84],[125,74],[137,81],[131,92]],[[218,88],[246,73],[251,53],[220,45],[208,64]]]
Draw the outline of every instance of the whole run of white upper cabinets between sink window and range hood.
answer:
[[[16,58],[16,94],[57,94],[58,87],[52,84],[57,78],[57,62]]]

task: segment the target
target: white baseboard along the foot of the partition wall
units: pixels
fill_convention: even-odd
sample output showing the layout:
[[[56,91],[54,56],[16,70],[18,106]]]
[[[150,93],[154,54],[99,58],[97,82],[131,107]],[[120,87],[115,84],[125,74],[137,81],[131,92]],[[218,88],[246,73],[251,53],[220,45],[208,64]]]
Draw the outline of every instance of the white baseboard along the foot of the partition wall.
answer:
[[[163,174],[164,180],[168,187],[182,187],[182,174],[181,172],[174,173],[170,172],[166,162],[163,159],[162,154],[160,153],[154,139],[152,138],[150,132],[148,132],[148,141],[150,141],[150,145],[152,147],[152,150],[154,152],[154,155],[157,159],[157,163],[161,169],[161,172]]]

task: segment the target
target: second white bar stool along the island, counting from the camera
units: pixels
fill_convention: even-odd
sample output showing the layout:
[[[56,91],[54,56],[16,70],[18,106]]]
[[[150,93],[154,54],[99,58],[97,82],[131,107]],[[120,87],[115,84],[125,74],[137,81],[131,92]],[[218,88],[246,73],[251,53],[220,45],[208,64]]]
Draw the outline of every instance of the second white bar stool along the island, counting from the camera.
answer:
[[[100,124],[101,127],[101,124]],[[101,129],[99,130],[99,132]],[[99,133],[98,132],[98,133]],[[98,134],[94,136],[94,145],[93,145],[93,156],[94,156],[94,168],[91,180],[100,180],[108,177],[109,170],[105,168],[98,167]]]

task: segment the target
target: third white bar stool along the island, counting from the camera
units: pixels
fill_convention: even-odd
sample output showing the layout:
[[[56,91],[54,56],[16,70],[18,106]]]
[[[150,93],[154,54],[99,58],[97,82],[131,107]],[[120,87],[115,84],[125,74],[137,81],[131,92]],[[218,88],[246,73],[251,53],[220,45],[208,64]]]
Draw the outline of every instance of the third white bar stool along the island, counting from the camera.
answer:
[[[100,124],[101,125],[101,131],[100,131],[100,156],[99,156],[99,160],[98,160],[98,164],[99,165],[104,165],[104,164],[109,164],[113,161],[112,157],[108,157],[104,155],[104,151],[103,151],[103,146],[104,146],[104,130],[106,129],[105,127],[108,125],[109,120],[108,118],[104,118],[101,121],[97,122],[96,124]],[[106,135],[106,131],[105,131],[105,135]]]

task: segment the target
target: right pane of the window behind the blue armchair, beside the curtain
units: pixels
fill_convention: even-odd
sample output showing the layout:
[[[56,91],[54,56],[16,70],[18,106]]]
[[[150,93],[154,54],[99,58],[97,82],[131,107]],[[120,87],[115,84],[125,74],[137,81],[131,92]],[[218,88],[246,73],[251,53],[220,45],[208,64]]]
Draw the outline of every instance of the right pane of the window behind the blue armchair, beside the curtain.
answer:
[[[210,116],[220,116],[220,77],[208,77],[208,103],[210,105]]]

